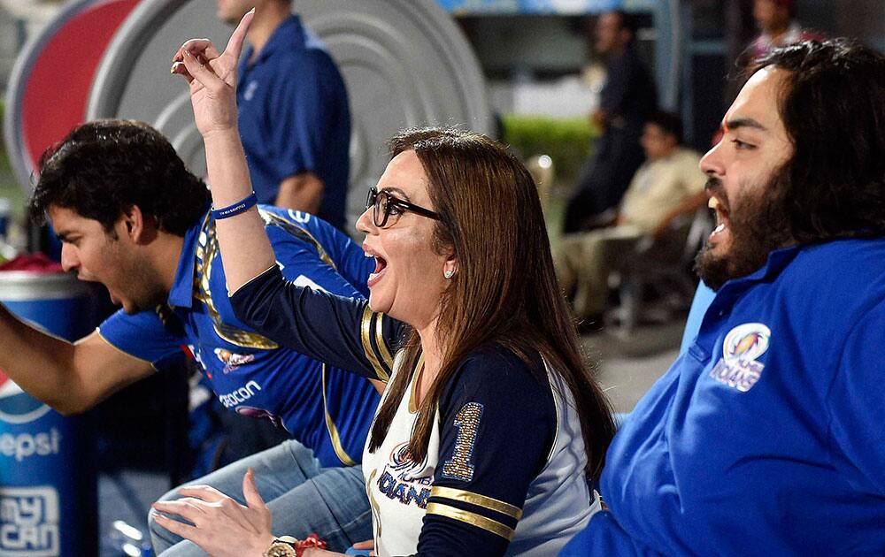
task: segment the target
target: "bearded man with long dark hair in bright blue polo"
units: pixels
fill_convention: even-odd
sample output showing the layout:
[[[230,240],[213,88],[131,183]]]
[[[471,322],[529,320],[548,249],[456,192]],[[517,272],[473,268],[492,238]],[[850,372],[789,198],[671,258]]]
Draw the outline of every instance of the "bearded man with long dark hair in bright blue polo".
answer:
[[[885,57],[758,60],[701,163],[716,291],[565,555],[885,553]]]

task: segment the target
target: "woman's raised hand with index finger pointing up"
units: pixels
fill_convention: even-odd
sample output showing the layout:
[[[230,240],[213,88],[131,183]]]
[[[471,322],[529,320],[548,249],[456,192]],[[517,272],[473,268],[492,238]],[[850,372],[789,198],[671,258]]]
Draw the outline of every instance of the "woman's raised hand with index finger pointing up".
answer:
[[[191,39],[175,52],[170,71],[188,80],[196,129],[204,138],[215,132],[237,131],[236,65],[254,15],[252,9],[242,17],[221,54],[208,39]]]

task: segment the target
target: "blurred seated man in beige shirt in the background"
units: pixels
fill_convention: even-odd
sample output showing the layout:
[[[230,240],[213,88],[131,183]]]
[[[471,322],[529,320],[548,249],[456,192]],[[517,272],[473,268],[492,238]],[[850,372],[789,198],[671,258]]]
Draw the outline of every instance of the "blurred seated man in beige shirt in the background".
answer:
[[[604,228],[566,234],[555,263],[559,284],[574,289],[576,317],[595,320],[608,301],[608,277],[626,263],[643,237],[665,238],[673,222],[704,205],[700,155],[681,146],[680,118],[654,113],[642,137],[646,162],[635,173],[617,217]]]

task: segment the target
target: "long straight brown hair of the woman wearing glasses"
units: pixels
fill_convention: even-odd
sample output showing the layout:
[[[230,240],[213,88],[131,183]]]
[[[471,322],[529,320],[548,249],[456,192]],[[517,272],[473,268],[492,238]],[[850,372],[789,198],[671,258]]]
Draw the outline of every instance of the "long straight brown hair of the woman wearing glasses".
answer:
[[[414,151],[429,179],[440,220],[435,248],[452,249],[458,273],[440,301],[436,327],[443,365],[421,402],[412,459],[421,462],[435,409],[458,363],[477,347],[497,344],[529,362],[543,355],[573,395],[587,450],[587,474],[598,478],[614,435],[608,401],[585,366],[550,256],[550,240],[531,175],[496,141],[451,129],[410,130],[390,141],[391,156]],[[417,332],[404,344],[401,370],[419,355]],[[535,366],[533,366],[535,369]],[[547,381],[544,370],[536,370]],[[375,419],[369,450],[381,446],[402,401],[409,373],[400,372]]]

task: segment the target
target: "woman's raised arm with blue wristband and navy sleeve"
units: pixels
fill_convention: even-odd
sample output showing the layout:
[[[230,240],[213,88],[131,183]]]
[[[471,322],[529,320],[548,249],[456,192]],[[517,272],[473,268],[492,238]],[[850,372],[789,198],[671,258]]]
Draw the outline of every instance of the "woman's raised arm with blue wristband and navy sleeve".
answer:
[[[271,242],[252,197],[236,113],[236,66],[253,12],[219,54],[207,39],[181,45],[172,72],[188,80],[203,135],[213,217],[237,317],[256,331],[321,362],[386,381],[401,326],[365,302],[289,284],[275,268]],[[242,286],[249,283],[249,287]],[[238,292],[239,291],[239,292]],[[238,293],[239,295],[234,295]]]

